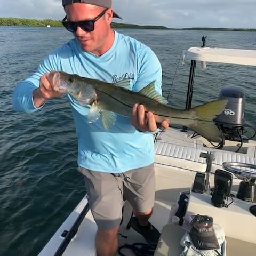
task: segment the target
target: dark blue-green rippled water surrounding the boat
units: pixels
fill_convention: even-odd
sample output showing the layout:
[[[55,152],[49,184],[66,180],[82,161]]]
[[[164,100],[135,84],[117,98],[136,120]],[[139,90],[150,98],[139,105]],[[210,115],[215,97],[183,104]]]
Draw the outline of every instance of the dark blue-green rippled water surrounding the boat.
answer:
[[[173,83],[169,101],[177,108],[185,107],[190,66],[186,61],[181,67],[180,55],[200,46],[202,35],[210,46],[256,49],[256,33],[118,31],[155,51],[163,67],[163,94],[167,96]],[[0,27],[0,255],[37,255],[85,194],[82,175],[76,171],[77,139],[66,99],[51,100],[32,115],[15,113],[11,104],[14,86],[71,38],[62,28]],[[193,105],[217,99],[223,85],[243,86],[246,122],[255,127],[256,68],[214,63],[207,67],[197,67]]]

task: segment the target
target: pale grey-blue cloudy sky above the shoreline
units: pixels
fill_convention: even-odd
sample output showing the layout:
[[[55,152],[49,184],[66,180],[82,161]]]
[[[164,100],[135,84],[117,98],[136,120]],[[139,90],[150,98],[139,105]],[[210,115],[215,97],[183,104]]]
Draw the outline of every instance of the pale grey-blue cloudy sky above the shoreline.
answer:
[[[113,0],[118,23],[169,28],[256,28],[256,0]],[[61,20],[61,0],[0,0],[0,17]]]

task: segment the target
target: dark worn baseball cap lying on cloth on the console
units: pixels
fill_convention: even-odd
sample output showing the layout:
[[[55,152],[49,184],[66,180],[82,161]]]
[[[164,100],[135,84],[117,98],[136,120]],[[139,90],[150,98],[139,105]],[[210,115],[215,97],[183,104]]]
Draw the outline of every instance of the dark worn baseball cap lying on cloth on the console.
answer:
[[[206,215],[195,215],[190,222],[191,240],[198,250],[218,250],[220,245],[213,229],[213,218]]]

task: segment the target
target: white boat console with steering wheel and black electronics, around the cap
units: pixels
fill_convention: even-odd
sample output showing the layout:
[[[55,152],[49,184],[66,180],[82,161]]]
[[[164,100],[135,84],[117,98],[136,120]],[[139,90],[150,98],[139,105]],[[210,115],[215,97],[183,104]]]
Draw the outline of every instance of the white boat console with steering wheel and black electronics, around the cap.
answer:
[[[241,169],[243,167],[243,169]],[[244,169],[246,168],[246,169]],[[248,169],[249,168],[249,169]],[[256,251],[256,214],[255,184],[256,165],[241,163],[223,163],[223,169],[215,172],[214,187],[205,191],[202,181],[204,175],[196,175],[188,196],[186,214],[208,215],[213,223],[225,230],[227,255],[254,255]],[[232,180],[237,178],[246,183],[239,186],[238,193],[233,191]],[[242,183],[244,184],[244,183]],[[247,196],[247,191],[250,191]],[[182,193],[181,193],[182,194]],[[180,225],[180,224],[179,224]],[[168,223],[162,231],[155,256],[180,255],[183,247],[180,239],[185,234],[182,226]]]

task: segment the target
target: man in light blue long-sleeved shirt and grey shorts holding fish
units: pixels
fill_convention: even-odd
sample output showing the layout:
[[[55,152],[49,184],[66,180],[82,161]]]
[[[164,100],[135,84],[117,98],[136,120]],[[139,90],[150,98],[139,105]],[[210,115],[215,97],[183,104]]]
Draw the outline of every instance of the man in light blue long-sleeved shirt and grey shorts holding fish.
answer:
[[[152,81],[161,94],[162,69],[156,55],[141,42],[112,30],[111,0],[63,0],[67,16],[63,25],[75,39],[49,54],[37,72],[17,85],[13,107],[33,113],[62,95],[53,90],[52,70],[116,83],[131,79],[130,90],[140,91]],[[89,204],[98,225],[95,245],[99,256],[117,252],[117,231],[123,198],[133,206],[132,227],[149,243],[159,233],[148,222],[155,195],[154,115],[135,104],[132,118],[118,116],[105,131],[99,119],[87,123],[90,106],[68,95],[78,137],[78,170],[84,175]],[[132,124],[131,124],[132,123]],[[167,121],[161,124],[168,127]]]

